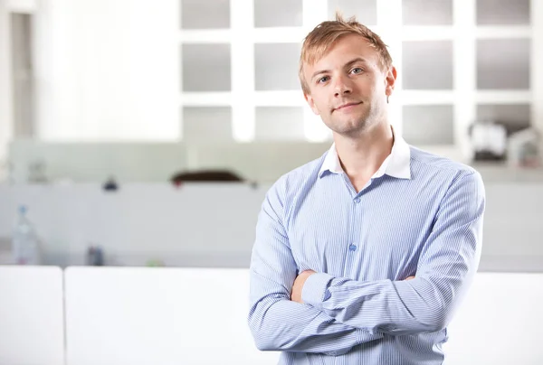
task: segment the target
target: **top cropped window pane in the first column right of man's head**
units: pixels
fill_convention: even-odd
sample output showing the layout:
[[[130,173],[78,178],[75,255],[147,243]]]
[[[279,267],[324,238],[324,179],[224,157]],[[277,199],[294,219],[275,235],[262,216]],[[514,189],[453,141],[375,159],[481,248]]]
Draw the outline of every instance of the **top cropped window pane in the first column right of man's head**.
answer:
[[[451,25],[452,0],[404,0],[404,25]]]

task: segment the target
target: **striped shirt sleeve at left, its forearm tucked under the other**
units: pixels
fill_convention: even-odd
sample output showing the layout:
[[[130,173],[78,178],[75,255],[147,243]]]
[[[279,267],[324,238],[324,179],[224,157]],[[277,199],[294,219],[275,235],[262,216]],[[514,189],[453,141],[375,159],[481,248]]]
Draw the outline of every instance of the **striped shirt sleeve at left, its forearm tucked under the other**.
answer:
[[[277,185],[277,184],[276,184]],[[291,301],[297,265],[284,228],[281,188],[266,194],[256,227],[250,267],[249,327],[259,350],[340,355],[383,337]]]

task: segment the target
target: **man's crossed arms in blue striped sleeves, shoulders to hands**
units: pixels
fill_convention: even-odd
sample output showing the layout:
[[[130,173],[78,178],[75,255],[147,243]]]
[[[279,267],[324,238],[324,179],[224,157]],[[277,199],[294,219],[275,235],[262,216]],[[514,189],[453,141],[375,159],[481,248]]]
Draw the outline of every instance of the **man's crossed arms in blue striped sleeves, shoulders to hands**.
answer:
[[[267,193],[252,251],[249,326],[257,348],[338,355],[384,334],[436,332],[450,322],[481,254],[478,173],[463,175],[446,192],[412,280],[309,272],[292,291],[300,278],[284,229],[283,196],[275,186]]]

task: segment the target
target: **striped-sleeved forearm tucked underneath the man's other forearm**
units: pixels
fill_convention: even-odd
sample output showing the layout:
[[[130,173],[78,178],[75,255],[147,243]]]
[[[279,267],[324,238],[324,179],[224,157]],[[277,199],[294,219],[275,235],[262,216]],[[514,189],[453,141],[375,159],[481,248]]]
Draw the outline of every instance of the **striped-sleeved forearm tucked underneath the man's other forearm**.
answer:
[[[252,273],[252,276],[259,276]],[[339,355],[357,344],[375,341],[382,334],[371,334],[331,318],[308,304],[298,304],[283,294],[264,295],[261,280],[252,285],[255,297],[249,326],[256,346],[262,351],[324,352]],[[264,286],[262,286],[264,285]]]

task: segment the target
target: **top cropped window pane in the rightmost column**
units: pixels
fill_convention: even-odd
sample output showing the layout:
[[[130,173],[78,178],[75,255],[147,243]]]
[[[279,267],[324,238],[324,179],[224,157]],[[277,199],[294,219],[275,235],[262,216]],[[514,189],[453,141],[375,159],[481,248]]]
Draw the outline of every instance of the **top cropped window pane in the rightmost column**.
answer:
[[[477,0],[477,24],[528,25],[529,10],[529,0]]]

